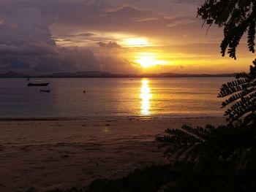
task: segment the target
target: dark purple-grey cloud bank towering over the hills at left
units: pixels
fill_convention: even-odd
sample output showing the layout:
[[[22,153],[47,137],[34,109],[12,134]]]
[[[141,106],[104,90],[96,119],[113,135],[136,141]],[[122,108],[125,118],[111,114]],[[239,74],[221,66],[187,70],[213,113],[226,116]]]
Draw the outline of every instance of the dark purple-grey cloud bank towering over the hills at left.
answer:
[[[44,18],[36,8],[20,9],[4,20],[0,25],[0,69],[35,72],[99,69],[99,61],[91,50],[56,46],[48,29],[54,22],[54,18]]]

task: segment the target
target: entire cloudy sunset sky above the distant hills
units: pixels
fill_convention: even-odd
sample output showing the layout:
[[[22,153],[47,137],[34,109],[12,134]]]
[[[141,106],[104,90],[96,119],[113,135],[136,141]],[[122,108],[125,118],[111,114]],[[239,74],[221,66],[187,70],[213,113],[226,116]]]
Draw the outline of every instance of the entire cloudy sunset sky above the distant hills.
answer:
[[[0,72],[247,72],[222,58],[222,28],[202,27],[203,0],[1,0]]]

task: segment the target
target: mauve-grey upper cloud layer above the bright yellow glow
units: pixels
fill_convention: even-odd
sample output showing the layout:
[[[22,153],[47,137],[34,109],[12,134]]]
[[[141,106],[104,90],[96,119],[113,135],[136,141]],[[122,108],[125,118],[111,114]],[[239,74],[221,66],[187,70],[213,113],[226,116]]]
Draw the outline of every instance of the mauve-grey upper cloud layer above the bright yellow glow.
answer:
[[[83,33],[101,31],[126,32],[167,39],[173,35],[188,35],[187,30],[177,32],[170,26],[187,25],[189,29],[193,27],[192,22],[177,23],[167,18],[183,15],[182,17],[191,17],[196,21],[196,6],[192,6],[196,1],[191,3],[186,0],[177,1],[159,0],[157,3],[153,0],[3,0],[0,2],[0,17],[7,18],[17,9],[36,7],[42,16],[56,19],[53,26],[55,36],[58,34],[68,36],[77,31]],[[195,30],[200,31],[200,27]],[[64,39],[70,38],[64,37]]]

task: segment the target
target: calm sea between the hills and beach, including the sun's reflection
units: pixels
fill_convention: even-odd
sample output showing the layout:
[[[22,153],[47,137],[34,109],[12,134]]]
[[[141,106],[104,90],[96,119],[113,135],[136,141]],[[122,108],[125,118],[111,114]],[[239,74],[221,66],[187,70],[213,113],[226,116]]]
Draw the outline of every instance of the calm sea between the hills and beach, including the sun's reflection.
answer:
[[[231,79],[47,79],[50,93],[26,79],[0,79],[0,118],[222,116],[217,94]]]

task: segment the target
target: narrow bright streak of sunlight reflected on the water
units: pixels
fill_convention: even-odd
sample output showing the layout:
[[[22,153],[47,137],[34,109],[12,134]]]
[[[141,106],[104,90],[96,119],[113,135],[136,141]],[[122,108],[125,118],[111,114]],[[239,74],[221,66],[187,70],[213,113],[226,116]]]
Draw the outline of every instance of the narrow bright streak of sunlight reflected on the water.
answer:
[[[141,115],[150,115],[151,111],[151,97],[152,94],[150,92],[150,88],[148,87],[148,80],[142,80],[142,85],[140,88],[140,99],[141,99],[141,107],[140,107],[140,113]]]

